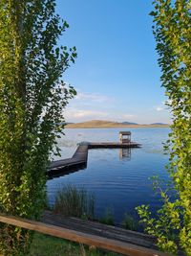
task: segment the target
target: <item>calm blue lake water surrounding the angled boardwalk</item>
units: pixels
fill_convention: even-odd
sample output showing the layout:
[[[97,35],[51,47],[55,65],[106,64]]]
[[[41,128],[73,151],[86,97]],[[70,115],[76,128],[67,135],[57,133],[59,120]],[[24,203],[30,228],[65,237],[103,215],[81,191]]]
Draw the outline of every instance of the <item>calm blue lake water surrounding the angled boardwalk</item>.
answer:
[[[66,129],[59,141],[62,158],[71,157],[76,145],[82,141],[118,141],[118,128]],[[123,128],[123,130],[125,130]],[[141,149],[89,150],[87,169],[71,175],[53,178],[47,182],[48,198],[53,204],[57,190],[65,184],[86,188],[96,198],[96,217],[113,211],[116,222],[123,219],[125,212],[136,217],[135,207],[144,203],[151,209],[159,208],[159,197],[153,191],[149,177],[159,175],[168,179],[165,164],[168,155],[162,150],[170,131],[169,128],[128,128],[132,140],[142,144]]]

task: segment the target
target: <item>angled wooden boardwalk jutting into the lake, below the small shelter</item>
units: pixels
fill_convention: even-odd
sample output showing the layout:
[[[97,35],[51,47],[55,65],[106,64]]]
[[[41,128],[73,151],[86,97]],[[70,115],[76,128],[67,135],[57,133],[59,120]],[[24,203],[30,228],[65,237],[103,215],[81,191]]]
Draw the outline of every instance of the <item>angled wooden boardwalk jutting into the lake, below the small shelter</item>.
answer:
[[[47,172],[49,178],[60,175],[69,175],[78,170],[85,169],[88,161],[89,149],[131,149],[140,148],[140,144],[135,142],[117,143],[117,142],[100,142],[80,144],[72,158],[53,161]]]

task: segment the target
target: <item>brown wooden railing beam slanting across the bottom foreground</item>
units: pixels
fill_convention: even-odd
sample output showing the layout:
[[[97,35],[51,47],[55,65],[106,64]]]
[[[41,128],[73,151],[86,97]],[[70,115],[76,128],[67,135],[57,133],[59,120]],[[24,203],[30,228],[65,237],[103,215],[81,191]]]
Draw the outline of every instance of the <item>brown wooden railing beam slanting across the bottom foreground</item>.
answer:
[[[74,231],[68,228],[47,224],[39,221],[30,221],[13,216],[0,214],[0,222],[34,230],[43,234],[51,235],[57,238],[70,240],[80,244],[95,245],[96,247],[115,251],[129,256],[170,256],[154,249],[143,246],[123,243],[120,241],[103,238],[83,232]]]

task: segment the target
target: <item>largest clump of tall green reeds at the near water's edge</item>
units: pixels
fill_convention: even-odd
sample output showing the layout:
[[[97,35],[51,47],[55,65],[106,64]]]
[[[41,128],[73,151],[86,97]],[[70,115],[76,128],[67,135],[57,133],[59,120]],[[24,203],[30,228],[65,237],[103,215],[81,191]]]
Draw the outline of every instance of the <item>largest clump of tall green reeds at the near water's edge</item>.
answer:
[[[73,216],[93,220],[95,217],[95,197],[85,189],[77,189],[74,185],[66,185],[55,196],[54,213],[66,217]]]

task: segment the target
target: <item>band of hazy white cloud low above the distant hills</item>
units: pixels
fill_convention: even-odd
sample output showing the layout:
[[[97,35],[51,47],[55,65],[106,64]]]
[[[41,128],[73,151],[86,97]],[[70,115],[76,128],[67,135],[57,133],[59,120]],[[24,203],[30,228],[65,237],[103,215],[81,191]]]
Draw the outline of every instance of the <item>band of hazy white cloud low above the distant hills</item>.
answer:
[[[168,123],[165,121],[167,117],[169,118],[168,107],[164,102],[153,106],[148,116],[145,114],[144,109],[137,111],[134,108],[122,107],[121,104],[120,99],[117,98],[78,90],[74,100],[70,101],[70,104],[64,110],[64,116],[66,122],[75,123],[90,120],[129,121],[142,124],[156,122]],[[158,114],[156,114],[156,111],[158,111]]]

